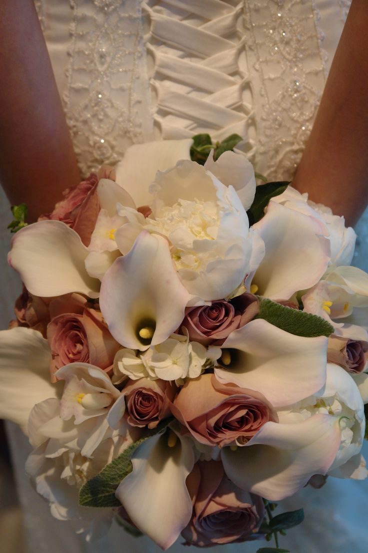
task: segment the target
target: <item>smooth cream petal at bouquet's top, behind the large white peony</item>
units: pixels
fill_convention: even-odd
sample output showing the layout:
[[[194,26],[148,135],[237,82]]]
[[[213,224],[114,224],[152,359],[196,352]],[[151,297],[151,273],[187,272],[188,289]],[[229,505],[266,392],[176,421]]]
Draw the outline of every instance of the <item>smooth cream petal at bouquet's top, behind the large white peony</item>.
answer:
[[[151,203],[148,187],[157,171],[169,169],[179,159],[190,159],[191,138],[134,144],[116,165],[116,181],[131,194],[137,206]]]

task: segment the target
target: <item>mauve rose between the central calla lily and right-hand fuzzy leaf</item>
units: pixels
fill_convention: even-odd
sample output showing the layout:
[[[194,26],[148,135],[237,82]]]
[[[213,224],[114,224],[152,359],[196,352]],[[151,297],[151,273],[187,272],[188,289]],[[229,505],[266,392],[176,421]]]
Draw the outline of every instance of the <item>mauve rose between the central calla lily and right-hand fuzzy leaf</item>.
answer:
[[[187,307],[180,334],[204,346],[221,346],[228,335],[241,328],[259,313],[259,301],[253,294],[241,294],[230,301],[212,301],[211,305]],[[186,330],[184,330],[186,329]]]

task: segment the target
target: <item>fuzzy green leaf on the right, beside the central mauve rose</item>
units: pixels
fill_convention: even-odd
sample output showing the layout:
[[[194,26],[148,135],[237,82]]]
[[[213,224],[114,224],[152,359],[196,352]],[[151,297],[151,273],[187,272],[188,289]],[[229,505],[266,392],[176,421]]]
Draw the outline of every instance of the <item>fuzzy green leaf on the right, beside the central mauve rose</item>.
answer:
[[[330,336],[334,328],[322,317],[280,305],[268,298],[259,298],[260,311],[255,319],[264,319],[271,325],[296,336]]]

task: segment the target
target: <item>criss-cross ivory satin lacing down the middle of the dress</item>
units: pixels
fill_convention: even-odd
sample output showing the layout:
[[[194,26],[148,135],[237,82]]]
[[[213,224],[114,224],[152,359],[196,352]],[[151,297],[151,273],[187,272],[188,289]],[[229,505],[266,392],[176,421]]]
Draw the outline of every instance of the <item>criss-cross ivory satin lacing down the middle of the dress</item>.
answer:
[[[238,63],[244,52],[242,4],[143,2],[150,19],[146,48],[153,65],[154,121],[162,138],[200,132],[218,140],[231,133],[248,137],[252,95],[248,71]],[[244,101],[247,89],[249,101]]]

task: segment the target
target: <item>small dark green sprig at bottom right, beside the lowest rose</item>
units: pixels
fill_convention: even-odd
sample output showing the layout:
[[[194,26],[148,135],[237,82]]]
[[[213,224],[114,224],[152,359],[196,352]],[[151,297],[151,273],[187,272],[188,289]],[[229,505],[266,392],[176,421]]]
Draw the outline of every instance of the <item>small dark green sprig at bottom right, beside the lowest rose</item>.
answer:
[[[257,553],[290,553],[289,549],[279,547],[279,534],[286,536],[286,530],[302,523],[304,520],[303,509],[280,513],[274,517],[273,512],[277,507],[277,503],[271,503],[264,499],[264,505],[268,521],[263,521],[259,532],[265,535],[266,541],[271,541],[274,538],[276,547],[261,547],[257,550]]]

